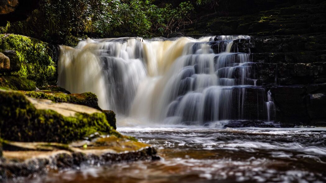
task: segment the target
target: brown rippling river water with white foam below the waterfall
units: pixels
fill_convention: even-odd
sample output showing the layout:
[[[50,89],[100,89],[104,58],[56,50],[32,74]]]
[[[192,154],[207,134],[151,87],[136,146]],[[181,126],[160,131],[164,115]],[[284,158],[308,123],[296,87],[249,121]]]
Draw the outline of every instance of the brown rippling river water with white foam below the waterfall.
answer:
[[[326,182],[326,128],[120,127],[162,160],[49,172],[27,182]]]

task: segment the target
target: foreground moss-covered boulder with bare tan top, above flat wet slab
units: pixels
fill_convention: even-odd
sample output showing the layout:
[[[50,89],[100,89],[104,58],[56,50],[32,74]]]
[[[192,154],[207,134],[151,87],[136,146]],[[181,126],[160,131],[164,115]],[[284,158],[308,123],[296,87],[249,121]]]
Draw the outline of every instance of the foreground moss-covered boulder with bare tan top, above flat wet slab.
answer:
[[[101,111],[81,105],[35,99],[0,90],[1,138],[22,142],[61,142],[91,134],[116,133]]]

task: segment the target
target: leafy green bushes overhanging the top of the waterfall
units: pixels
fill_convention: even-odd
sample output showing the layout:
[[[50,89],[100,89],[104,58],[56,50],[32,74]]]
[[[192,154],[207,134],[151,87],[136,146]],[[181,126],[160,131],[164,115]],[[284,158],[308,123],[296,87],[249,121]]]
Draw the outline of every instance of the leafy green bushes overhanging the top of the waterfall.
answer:
[[[76,46],[74,36],[168,35],[191,23],[191,1],[178,6],[154,0],[42,0],[29,19],[8,32]],[[35,29],[37,27],[37,29]]]

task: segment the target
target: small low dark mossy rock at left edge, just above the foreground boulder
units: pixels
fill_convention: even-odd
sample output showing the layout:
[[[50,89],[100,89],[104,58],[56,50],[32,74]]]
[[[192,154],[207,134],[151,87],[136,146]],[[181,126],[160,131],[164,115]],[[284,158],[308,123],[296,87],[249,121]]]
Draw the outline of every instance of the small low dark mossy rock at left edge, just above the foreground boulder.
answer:
[[[36,89],[34,81],[19,76],[0,76],[0,87],[23,91],[33,91]]]

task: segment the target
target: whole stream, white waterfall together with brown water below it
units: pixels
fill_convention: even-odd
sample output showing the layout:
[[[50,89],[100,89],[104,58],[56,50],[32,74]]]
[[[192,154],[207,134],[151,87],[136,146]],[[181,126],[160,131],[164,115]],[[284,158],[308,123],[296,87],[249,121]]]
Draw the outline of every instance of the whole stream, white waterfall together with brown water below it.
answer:
[[[162,160],[50,171],[22,182],[326,182],[325,128],[222,128],[230,120],[275,118],[250,53],[238,52],[243,39],[250,37],[62,46],[58,85],[96,93],[101,108],[116,112],[117,130],[153,145]]]

